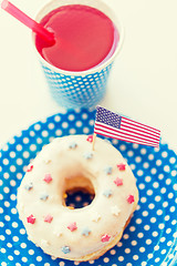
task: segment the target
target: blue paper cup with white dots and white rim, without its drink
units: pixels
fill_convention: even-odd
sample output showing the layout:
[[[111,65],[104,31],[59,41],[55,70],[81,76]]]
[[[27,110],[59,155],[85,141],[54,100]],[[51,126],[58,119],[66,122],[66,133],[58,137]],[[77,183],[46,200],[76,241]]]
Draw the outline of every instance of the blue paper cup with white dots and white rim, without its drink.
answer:
[[[95,68],[86,71],[73,72],[53,66],[41,57],[37,49],[35,51],[44,71],[50,93],[60,106],[65,109],[94,108],[105,95],[106,84],[114,59],[122,47],[123,28],[110,7],[101,0],[54,0],[40,10],[37,16],[37,21],[41,21],[45,14],[61,6],[73,3],[96,8],[114,22],[118,32],[118,40],[112,55]]]

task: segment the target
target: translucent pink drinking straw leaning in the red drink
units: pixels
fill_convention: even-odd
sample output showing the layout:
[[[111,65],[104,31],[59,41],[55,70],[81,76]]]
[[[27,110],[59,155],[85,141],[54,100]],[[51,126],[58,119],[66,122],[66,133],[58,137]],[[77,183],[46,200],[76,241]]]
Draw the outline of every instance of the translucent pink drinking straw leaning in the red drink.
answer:
[[[19,10],[11,2],[9,2],[8,0],[3,0],[1,3],[1,8],[4,9],[8,13],[13,16],[19,21],[21,21],[23,24],[29,27],[32,31],[39,34],[44,41],[46,41],[50,44],[54,43],[54,34],[52,32],[48,31],[40,23],[32,20],[30,17],[28,17],[25,13]]]

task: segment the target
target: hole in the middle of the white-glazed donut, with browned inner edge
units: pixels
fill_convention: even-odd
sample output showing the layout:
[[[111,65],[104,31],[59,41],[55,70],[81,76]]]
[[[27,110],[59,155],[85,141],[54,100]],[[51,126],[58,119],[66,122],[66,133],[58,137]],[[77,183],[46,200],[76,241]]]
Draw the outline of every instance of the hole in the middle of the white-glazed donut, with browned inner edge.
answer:
[[[95,197],[92,182],[84,176],[65,180],[63,205],[71,208],[83,208],[90,205]]]

